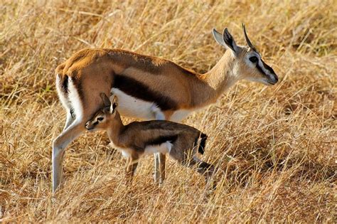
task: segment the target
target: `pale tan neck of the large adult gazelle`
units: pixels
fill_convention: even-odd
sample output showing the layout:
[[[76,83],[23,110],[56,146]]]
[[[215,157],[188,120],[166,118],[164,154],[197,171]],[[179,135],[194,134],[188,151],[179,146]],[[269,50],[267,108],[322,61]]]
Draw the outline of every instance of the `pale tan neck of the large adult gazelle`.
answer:
[[[234,59],[230,50],[227,50],[208,73],[199,75],[204,86],[194,87],[193,98],[196,99],[196,106],[210,105],[216,102],[223,92],[239,80],[235,73]]]

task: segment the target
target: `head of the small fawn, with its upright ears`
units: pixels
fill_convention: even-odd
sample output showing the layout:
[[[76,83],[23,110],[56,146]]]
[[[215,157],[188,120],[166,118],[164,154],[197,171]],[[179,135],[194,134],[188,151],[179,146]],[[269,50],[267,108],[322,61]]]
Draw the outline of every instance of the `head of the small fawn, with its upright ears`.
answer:
[[[102,98],[104,107],[98,110],[92,119],[85,123],[85,128],[89,131],[107,129],[107,127],[111,126],[110,122],[112,122],[117,113],[117,96],[112,95],[110,97],[111,101],[105,93],[101,93],[100,97]]]

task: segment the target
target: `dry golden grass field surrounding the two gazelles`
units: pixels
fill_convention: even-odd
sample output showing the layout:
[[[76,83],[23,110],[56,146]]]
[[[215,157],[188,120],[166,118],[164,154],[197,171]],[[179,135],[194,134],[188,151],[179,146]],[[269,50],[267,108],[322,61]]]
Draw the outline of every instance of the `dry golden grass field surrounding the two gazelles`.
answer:
[[[1,222],[336,223],[336,1],[89,2],[1,1]],[[68,146],[53,197],[57,65],[82,48],[122,48],[203,73],[225,51],[211,29],[245,44],[241,23],[279,82],[240,81],[184,120],[209,136],[213,193],[173,161],[156,186],[153,156],[125,186],[124,159],[97,132]]]

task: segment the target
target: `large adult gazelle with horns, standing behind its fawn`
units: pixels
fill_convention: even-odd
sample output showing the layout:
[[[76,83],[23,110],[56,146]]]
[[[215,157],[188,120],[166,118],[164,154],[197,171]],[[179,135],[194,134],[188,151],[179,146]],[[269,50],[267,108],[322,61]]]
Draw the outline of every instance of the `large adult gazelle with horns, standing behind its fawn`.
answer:
[[[277,83],[277,75],[264,63],[244,26],[243,31],[248,46],[238,46],[227,28],[223,34],[213,29],[215,41],[228,50],[205,74],[170,60],[116,49],[80,50],[58,65],[56,87],[67,119],[53,141],[53,192],[62,178],[66,146],[85,132],[85,123],[102,107],[100,92],[117,95],[123,116],[180,122],[216,102],[239,80]],[[156,154],[155,161],[155,180],[164,181],[164,154]]]

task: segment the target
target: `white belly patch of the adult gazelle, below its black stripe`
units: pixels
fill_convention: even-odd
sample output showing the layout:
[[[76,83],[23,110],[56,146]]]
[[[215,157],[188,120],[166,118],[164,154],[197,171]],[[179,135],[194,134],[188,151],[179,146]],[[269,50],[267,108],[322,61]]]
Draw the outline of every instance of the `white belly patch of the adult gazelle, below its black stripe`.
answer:
[[[122,116],[141,119],[165,119],[163,112],[154,102],[139,100],[127,95],[118,88],[111,89],[112,94],[118,97],[118,112]]]

